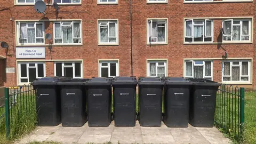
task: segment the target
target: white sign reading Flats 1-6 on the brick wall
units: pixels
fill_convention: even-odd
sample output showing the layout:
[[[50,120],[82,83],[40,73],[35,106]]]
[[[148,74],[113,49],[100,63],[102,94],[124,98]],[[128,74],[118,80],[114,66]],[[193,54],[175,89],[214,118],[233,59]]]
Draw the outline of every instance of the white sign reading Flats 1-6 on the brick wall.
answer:
[[[45,47],[16,47],[17,59],[45,58]]]

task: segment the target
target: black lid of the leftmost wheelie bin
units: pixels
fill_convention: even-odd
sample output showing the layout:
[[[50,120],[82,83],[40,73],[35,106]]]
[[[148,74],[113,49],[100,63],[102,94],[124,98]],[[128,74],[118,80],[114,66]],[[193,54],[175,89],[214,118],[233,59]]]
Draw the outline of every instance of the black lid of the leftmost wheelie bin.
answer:
[[[57,82],[65,81],[67,79],[69,79],[69,78],[68,77],[58,77],[58,76],[43,77],[43,78],[36,79],[31,84],[32,85],[56,85]]]

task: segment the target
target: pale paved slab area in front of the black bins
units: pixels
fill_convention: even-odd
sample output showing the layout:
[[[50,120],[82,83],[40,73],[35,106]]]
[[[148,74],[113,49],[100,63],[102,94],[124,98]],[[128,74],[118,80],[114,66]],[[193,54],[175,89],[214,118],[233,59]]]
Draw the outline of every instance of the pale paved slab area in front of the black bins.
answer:
[[[162,123],[161,127],[115,127],[114,122],[109,127],[37,127],[27,137],[17,143],[31,141],[58,141],[61,143],[231,143],[228,138],[215,127],[198,128],[189,125],[187,128],[170,128]]]

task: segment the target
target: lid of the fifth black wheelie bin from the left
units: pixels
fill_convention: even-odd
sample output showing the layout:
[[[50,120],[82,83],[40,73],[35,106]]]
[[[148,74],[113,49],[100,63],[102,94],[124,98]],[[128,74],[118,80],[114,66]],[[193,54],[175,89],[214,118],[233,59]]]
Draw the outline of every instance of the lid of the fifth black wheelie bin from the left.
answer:
[[[159,77],[139,77],[139,85],[164,85],[163,78]]]

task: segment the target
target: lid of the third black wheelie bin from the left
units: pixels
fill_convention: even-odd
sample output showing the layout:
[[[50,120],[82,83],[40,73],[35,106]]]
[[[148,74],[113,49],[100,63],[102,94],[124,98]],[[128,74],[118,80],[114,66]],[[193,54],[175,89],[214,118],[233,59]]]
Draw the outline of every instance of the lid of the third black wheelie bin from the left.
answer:
[[[84,82],[85,85],[111,85],[113,77],[92,77]]]

